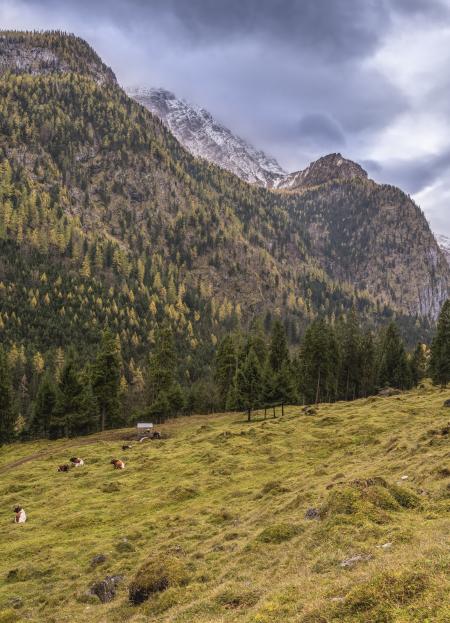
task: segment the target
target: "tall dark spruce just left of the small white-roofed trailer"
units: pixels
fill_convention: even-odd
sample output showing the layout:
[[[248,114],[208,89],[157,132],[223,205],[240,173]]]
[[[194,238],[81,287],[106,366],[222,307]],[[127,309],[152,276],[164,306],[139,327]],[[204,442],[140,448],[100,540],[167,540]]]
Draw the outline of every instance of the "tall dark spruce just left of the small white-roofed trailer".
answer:
[[[106,329],[92,366],[92,389],[100,413],[101,430],[121,423],[120,366],[120,349],[111,331]]]

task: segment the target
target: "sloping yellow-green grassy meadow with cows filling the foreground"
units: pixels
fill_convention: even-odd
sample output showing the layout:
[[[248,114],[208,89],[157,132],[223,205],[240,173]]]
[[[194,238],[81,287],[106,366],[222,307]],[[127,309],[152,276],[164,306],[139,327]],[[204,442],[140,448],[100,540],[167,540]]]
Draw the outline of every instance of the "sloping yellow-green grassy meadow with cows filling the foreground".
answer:
[[[448,621],[449,397],[183,418],[127,452],[127,431],[1,448],[0,623]],[[57,473],[72,455],[85,467]]]

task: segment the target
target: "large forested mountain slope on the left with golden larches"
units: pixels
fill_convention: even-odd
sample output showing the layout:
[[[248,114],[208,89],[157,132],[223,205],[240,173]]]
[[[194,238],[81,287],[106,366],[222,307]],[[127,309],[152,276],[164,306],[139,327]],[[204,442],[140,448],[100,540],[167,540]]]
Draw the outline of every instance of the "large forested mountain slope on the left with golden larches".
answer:
[[[281,312],[294,342],[319,312],[392,315],[328,277],[281,195],[195,159],[99,81],[85,43],[29,33],[0,45],[18,39],[61,53],[43,73],[9,56],[0,76],[0,331],[8,349],[26,345],[19,358],[89,348],[109,324],[125,362],[142,361],[170,322],[192,380],[223,331],[255,315]]]

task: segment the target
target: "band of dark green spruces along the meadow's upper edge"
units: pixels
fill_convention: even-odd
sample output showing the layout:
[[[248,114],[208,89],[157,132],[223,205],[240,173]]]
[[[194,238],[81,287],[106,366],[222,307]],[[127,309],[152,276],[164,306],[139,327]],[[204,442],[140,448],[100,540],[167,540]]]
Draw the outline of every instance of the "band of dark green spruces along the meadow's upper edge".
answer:
[[[57,358],[56,358],[57,360]],[[38,365],[39,362],[36,362]],[[92,360],[69,350],[35,388],[26,417],[21,391],[0,347],[0,443],[15,438],[56,439],[89,434],[143,418],[161,422],[193,412],[253,409],[273,403],[317,404],[355,400],[386,387],[410,389],[424,377],[450,382],[450,300],[442,307],[435,337],[407,352],[391,322],[376,333],[364,329],[355,312],[335,323],[319,319],[292,352],[281,319],[270,330],[255,321],[217,344],[211,374],[197,384],[180,382],[179,355],[170,325],[157,330],[145,374],[128,384],[120,341],[105,330]],[[130,415],[131,414],[131,415]]]

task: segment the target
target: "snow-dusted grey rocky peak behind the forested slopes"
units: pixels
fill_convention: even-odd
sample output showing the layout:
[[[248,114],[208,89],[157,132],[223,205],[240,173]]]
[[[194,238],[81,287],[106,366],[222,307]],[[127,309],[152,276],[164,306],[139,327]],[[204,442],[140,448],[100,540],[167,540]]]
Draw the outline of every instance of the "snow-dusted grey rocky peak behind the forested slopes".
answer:
[[[256,150],[213,119],[165,89],[129,89],[128,94],[155,114],[180,143],[199,156],[252,184],[272,186],[286,172],[278,162]]]

